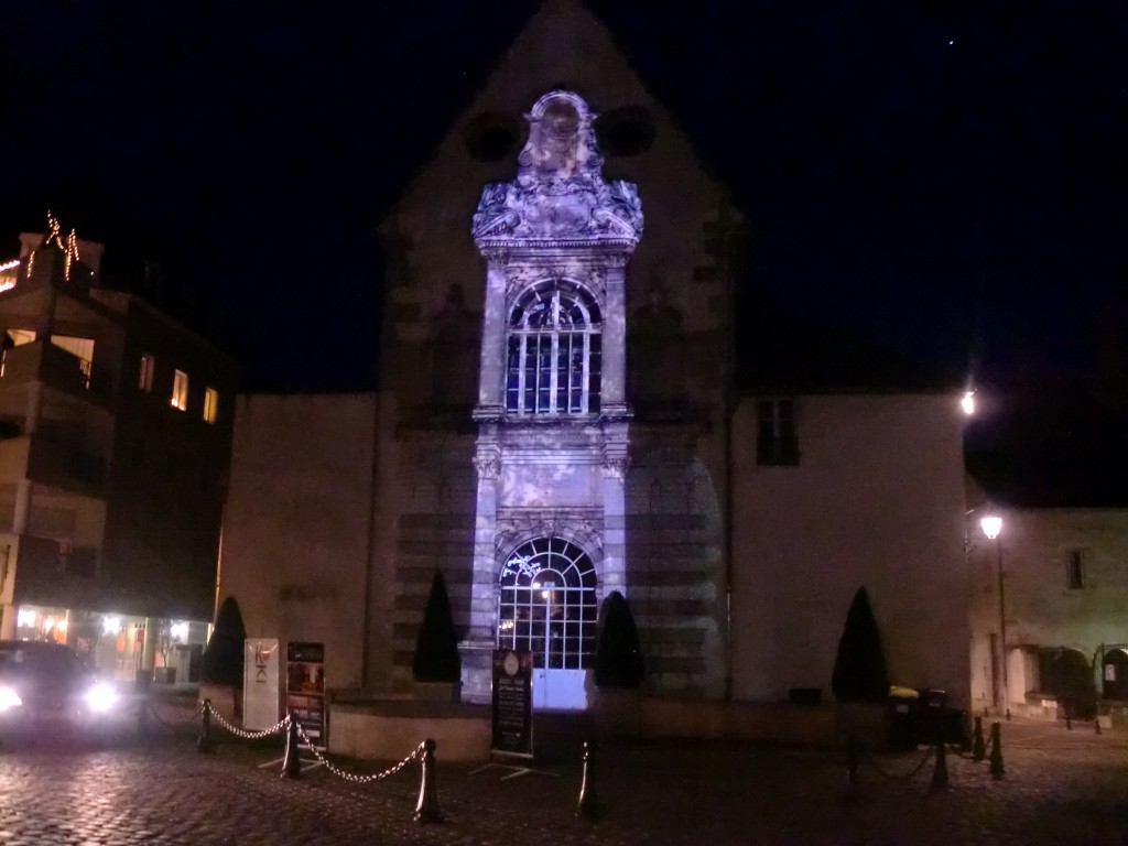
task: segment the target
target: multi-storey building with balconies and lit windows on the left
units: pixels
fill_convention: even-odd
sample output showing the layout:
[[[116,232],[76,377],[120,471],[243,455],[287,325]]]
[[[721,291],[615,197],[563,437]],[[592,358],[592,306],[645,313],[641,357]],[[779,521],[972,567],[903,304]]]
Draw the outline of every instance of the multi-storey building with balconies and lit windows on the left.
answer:
[[[0,264],[0,636],[183,678],[213,614],[236,364],[105,287],[102,245],[20,241]]]

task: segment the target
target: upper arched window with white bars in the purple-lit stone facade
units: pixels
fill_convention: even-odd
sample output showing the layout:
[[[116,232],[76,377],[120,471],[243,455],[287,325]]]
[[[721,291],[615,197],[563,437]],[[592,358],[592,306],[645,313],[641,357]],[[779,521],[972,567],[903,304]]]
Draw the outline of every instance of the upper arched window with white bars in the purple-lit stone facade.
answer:
[[[599,412],[599,303],[566,281],[532,285],[509,317],[505,409],[510,414]]]

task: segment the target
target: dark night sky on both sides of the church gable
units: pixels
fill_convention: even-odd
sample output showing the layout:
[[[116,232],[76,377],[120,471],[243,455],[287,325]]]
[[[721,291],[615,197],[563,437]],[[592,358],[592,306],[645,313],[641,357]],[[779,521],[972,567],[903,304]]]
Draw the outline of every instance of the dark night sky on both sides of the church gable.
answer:
[[[785,306],[984,379],[1128,358],[1121,2],[590,5]],[[248,384],[369,385],[376,222],[534,6],[6,3],[0,256],[51,208]]]

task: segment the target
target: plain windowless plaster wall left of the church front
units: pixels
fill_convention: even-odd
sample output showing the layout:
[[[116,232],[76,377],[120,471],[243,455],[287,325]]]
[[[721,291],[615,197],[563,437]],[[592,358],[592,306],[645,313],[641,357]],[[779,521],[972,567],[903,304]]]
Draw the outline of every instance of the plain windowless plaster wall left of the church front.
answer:
[[[326,684],[362,682],[374,394],[238,398],[220,592],[249,637],[325,644]]]

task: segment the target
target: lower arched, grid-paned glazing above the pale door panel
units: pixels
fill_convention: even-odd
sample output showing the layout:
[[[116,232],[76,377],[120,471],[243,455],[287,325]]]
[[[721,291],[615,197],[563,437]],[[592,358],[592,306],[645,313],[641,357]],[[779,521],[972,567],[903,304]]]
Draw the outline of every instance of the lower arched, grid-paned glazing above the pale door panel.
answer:
[[[536,667],[582,670],[596,652],[596,565],[563,538],[519,546],[500,576],[497,645],[529,650]]]

